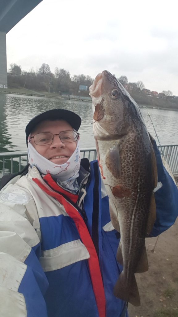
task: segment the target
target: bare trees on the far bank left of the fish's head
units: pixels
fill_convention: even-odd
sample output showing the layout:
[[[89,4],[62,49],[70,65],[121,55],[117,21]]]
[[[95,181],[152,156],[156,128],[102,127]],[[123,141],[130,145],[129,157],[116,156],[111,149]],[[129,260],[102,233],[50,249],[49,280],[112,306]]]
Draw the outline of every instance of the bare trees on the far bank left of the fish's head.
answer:
[[[48,64],[43,63],[39,69],[32,67],[24,71],[17,64],[10,64],[8,71],[9,88],[26,88],[36,91],[44,91],[57,94],[79,94],[79,85],[92,85],[93,79],[89,75],[79,74],[70,76],[68,70],[64,68],[55,68],[54,74],[51,72]],[[83,91],[82,94],[88,95]]]

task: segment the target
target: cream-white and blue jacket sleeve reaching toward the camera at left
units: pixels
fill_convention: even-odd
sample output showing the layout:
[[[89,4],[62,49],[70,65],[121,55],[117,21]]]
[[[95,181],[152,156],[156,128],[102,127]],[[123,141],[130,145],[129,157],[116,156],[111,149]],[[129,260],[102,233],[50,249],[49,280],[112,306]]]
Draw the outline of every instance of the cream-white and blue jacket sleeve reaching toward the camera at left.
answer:
[[[39,262],[41,244],[35,203],[9,185],[0,194],[0,316],[47,317],[48,281]],[[36,218],[36,219],[35,219]]]

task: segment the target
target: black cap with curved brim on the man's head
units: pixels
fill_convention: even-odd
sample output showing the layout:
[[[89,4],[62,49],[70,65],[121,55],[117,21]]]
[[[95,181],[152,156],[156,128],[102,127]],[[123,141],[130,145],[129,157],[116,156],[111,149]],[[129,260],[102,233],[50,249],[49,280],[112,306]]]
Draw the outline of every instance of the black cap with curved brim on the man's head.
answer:
[[[67,121],[76,131],[79,130],[80,124],[81,124],[81,118],[78,116],[78,114],[66,110],[66,109],[52,109],[45,111],[43,113],[38,114],[36,117],[31,119],[26,126],[25,133],[26,133],[26,143],[28,146],[28,136],[30,132],[35,128],[35,126],[44,120],[50,120],[50,119],[56,119],[56,120],[65,120]]]

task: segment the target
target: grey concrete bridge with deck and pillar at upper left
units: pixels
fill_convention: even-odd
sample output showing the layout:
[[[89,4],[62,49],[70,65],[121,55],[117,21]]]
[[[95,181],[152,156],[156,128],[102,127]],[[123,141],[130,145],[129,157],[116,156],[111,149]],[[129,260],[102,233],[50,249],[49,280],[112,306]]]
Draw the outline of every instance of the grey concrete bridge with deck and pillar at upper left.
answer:
[[[7,88],[6,34],[41,1],[0,1],[0,88]]]

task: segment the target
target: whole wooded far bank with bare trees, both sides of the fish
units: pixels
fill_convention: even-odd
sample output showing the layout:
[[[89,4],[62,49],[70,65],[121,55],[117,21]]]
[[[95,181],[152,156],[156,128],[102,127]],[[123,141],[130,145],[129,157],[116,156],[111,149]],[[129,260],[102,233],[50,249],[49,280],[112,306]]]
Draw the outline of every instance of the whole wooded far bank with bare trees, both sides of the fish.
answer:
[[[140,107],[178,111],[178,96],[173,96],[170,90],[163,90],[161,93],[150,91],[145,88],[143,81],[128,82],[124,75],[119,77],[118,81]],[[49,65],[45,63],[36,71],[31,67],[29,72],[22,70],[20,65],[11,63],[7,82],[8,88],[0,85],[1,93],[91,101],[91,76],[71,76],[68,70],[58,67],[53,74]]]

